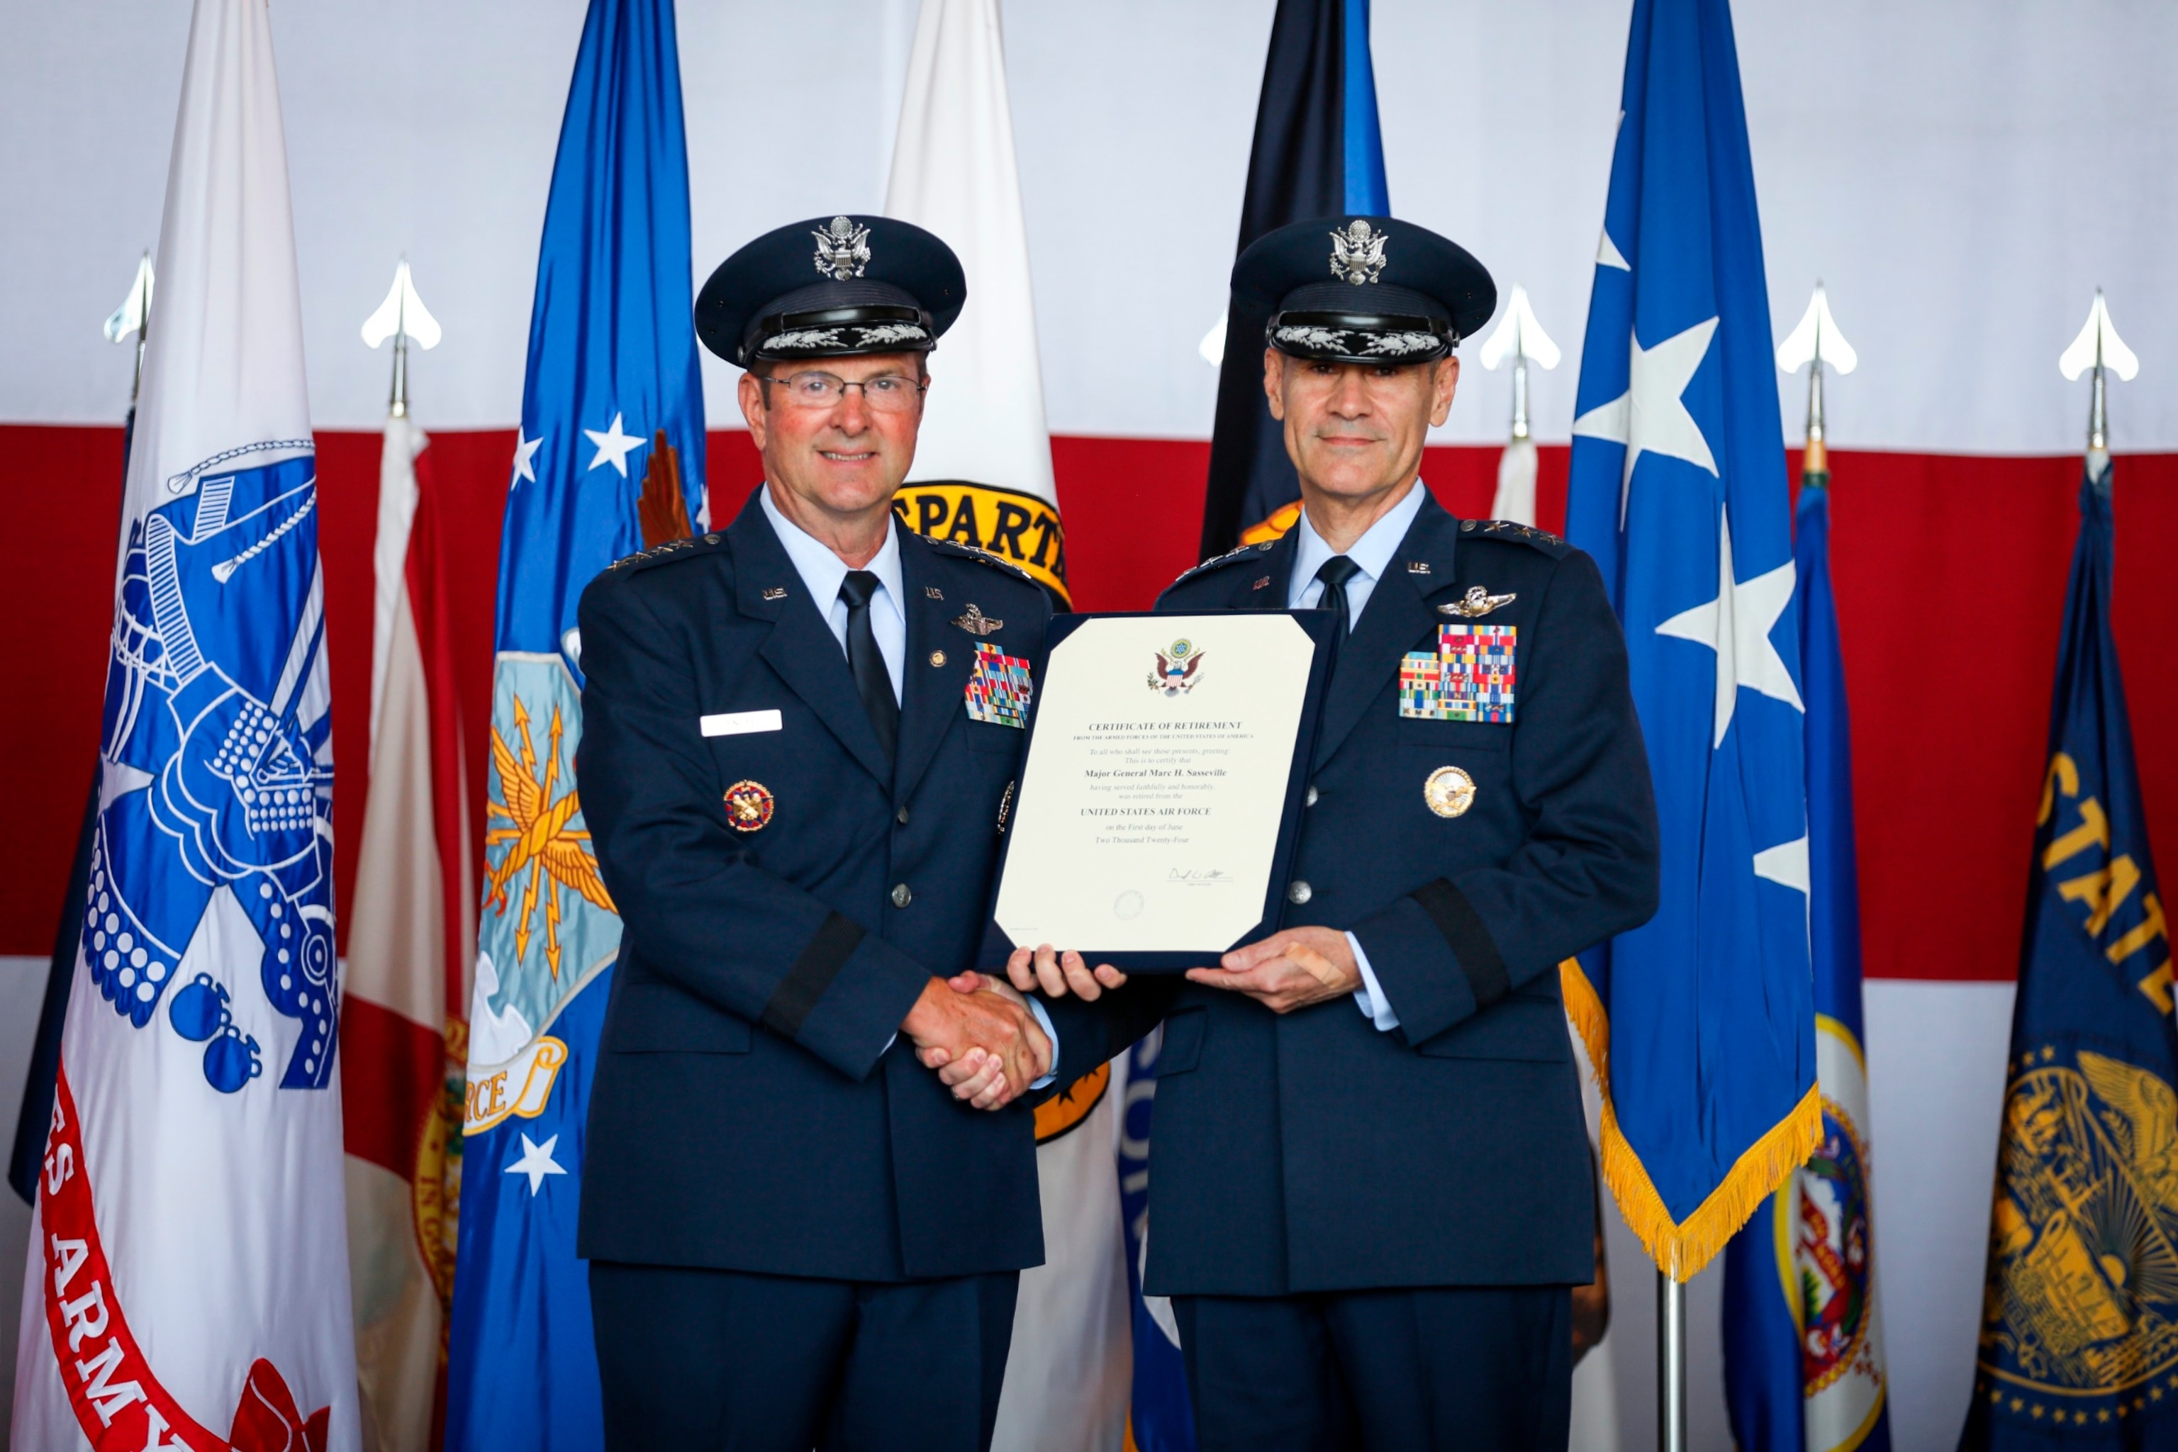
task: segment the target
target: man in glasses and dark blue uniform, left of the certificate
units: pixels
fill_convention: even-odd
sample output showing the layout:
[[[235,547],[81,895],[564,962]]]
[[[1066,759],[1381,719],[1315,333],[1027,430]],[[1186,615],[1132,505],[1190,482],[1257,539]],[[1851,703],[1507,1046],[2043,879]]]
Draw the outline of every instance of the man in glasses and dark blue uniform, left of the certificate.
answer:
[[[960,973],[1050,603],[891,516],[963,296],[884,218],[734,253],[695,322],[747,368],[764,488],[582,599],[577,771],[625,925],[579,1232],[610,1448],[991,1439],[1054,1045]]]

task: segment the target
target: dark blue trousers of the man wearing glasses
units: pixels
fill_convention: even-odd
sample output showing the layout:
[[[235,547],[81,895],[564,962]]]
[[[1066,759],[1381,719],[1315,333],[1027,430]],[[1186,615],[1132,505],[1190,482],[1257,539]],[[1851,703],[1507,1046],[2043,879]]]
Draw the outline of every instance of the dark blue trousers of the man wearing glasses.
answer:
[[[991,1445],[1019,1271],[856,1282],[590,1263],[610,1452]]]

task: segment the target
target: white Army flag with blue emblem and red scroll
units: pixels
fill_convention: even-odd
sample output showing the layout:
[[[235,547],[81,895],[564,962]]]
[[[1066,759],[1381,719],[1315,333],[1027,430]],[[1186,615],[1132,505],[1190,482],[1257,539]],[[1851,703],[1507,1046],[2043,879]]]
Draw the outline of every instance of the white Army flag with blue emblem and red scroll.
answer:
[[[359,1443],[316,507],[268,13],[198,0],[15,1448]]]

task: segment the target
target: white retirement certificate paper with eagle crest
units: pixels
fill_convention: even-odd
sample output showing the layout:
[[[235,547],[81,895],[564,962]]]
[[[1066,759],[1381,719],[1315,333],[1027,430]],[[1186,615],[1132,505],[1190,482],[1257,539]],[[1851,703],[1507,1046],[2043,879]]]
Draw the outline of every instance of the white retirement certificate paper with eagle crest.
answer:
[[[1316,642],[1106,616],[1052,647],[998,890],[1015,947],[1220,953],[1261,919]]]

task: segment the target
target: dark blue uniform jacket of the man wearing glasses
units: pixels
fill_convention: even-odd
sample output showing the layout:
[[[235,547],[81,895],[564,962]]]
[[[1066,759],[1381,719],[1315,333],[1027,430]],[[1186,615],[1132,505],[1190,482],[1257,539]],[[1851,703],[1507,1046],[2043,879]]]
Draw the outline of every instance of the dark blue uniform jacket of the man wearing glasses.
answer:
[[[751,496],[582,599],[582,805],[623,943],[590,1097],[579,1252],[832,1280],[1043,1258],[1032,1112],[954,1102],[900,1021],[974,964],[1024,731],[971,721],[976,647],[1041,679],[1050,603],[900,531],[897,760]],[[998,625],[954,625],[971,605]],[[706,734],[706,716],[778,712]],[[723,725],[767,725],[762,718]],[[723,797],[769,803],[743,832]]]

